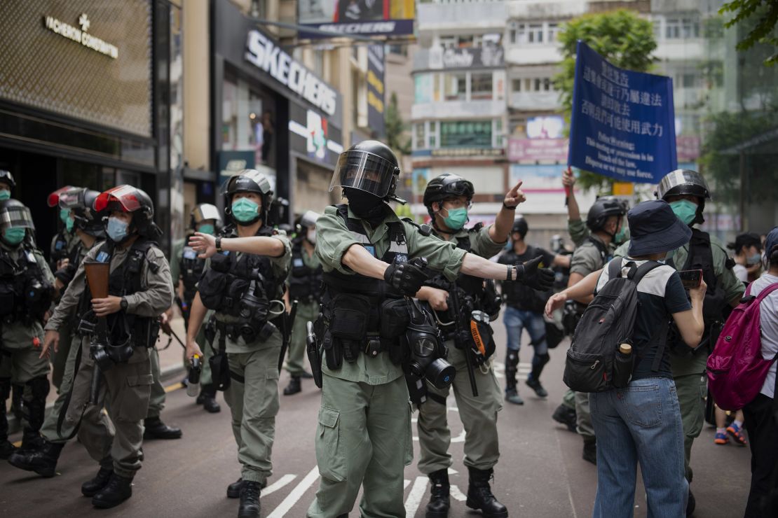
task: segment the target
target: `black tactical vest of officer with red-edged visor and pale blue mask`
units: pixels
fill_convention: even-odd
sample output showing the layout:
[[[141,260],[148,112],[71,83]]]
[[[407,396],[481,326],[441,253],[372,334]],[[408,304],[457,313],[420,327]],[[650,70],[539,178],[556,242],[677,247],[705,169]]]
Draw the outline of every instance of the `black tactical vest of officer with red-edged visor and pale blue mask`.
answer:
[[[145,238],[138,238],[132,243],[127,252],[127,257],[108,276],[108,294],[115,297],[124,297],[143,291],[142,272],[146,263],[152,273],[159,271],[159,265],[146,259],[146,254],[152,246],[159,246],[156,242]],[[116,244],[112,241],[103,242],[95,256],[97,262],[107,262],[114,256]],[[95,320],[93,314],[89,314],[92,308],[92,290],[89,282],[84,279],[84,291],[79,301],[79,317]],[[88,316],[91,315],[91,316]],[[133,347],[153,347],[159,333],[159,321],[156,317],[144,317],[125,311],[117,311],[106,317],[108,329],[108,341],[110,343],[123,343],[127,336],[131,336]],[[83,328],[86,329],[86,328]]]

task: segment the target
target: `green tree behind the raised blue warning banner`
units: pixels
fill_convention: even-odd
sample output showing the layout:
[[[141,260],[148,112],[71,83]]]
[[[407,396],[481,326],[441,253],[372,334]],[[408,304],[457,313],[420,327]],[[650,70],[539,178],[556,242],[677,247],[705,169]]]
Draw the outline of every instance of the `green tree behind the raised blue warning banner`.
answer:
[[[627,70],[645,72],[652,66],[651,53],[657,48],[654,26],[633,11],[587,14],[572,19],[559,32],[562,44],[562,71],[554,77],[565,119],[573,109],[573,79],[576,73],[576,43],[582,40],[602,57]],[[579,185],[610,193],[615,180],[593,172],[581,171]]]

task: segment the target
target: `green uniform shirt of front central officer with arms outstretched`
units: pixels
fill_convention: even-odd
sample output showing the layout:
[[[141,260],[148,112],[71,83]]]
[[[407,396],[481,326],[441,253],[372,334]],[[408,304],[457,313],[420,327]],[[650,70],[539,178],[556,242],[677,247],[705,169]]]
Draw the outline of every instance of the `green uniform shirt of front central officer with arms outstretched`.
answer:
[[[349,208],[349,217],[356,218]],[[376,228],[371,228],[366,222],[362,222],[363,228],[370,242],[375,247],[377,257],[383,257],[390,245],[388,223],[401,221],[396,214],[387,214]],[[408,245],[408,259],[424,257],[429,268],[439,270],[448,280],[454,280],[459,274],[465,252],[457,249],[453,242],[443,242],[432,235],[425,236],[419,233],[419,229],[401,221],[405,240]],[[334,206],[327,207],[324,214],[316,221],[316,255],[321,261],[325,272],[338,270],[346,275],[354,272],[342,262],[345,252],[352,245],[361,245],[345,221],[338,216],[338,210]],[[371,385],[386,384],[403,375],[402,367],[394,365],[389,360],[389,355],[381,353],[372,358],[366,354],[360,354],[354,363],[347,361],[338,370],[329,370],[327,363],[321,366],[322,372],[338,377],[346,381],[359,381]]]

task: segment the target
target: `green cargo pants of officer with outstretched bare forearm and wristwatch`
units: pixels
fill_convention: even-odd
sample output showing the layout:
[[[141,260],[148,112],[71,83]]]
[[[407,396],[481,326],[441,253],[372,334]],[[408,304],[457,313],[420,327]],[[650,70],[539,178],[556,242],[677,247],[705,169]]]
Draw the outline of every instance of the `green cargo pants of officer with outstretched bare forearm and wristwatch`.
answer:
[[[227,353],[230,374],[234,376],[224,400],[232,412],[240,476],[261,485],[272,475],[270,454],[275,415],[279,413],[279,354],[280,341],[277,346],[251,353]]]

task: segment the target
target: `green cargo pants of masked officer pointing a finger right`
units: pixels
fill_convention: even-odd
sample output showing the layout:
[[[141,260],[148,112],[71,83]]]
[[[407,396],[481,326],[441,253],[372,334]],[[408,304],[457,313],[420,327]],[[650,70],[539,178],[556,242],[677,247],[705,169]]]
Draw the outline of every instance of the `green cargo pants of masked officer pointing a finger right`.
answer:
[[[475,384],[478,397],[473,396],[468,377],[468,367],[464,352],[454,347],[454,342],[446,342],[447,360],[457,369],[454,377],[454,398],[457,401],[459,417],[464,426],[464,465],[468,468],[489,470],[499,459],[499,441],[497,440],[497,412],[503,408],[503,394],[489,367],[485,372],[475,368]],[[429,475],[433,471],[450,468],[451,430],[447,423],[447,405],[434,399],[447,398],[449,389],[439,390],[429,383],[427,390],[432,397],[419,406],[419,471]]]

